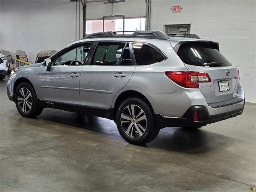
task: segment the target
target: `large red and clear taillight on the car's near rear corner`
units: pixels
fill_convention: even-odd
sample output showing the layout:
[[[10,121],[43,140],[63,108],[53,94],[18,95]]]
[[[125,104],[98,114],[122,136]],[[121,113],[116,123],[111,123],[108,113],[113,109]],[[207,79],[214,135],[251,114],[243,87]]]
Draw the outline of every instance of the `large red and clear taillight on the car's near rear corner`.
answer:
[[[205,72],[194,71],[166,71],[166,76],[176,84],[186,88],[199,88],[198,83],[211,82]]]

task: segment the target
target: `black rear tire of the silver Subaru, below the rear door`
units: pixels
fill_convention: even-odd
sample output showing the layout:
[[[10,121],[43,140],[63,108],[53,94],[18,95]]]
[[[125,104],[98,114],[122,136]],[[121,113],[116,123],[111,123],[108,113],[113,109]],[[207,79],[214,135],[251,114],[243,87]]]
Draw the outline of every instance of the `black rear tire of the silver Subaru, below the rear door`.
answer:
[[[144,132],[143,132],[142,129],[140,129],[140,133],[143,132],[143,134],[141,136],[138,136],[138,138],[133,138],[133,135],[132,135],[133,134],[132,131],[134,131],[133,128],[135,128],[135,123],[136,123],[136,114],[135,114],[136,112],[134,112],[135,122],[130,121],[130,122],[127,122],[127,123],[121,123],[122,112],[124,112],[124,110],[127,110],[128,107],[131,106],[131,105],[136,105],[136,108],[138,108],[137,114],[140,112],[139,110],[143,110],[143,112],[144,112],[143,114],[146,116],[146,126],[145,126],[146,129],[145,129]],[[142,114],[142,116],[144,116],[143,114]],[[137,119],[139,119],[139,117],[141,117],[141,115],[138,116]],[[133,126],[131,126],[132,128],[130,128],[131,132],[128,131],[128,132],[130,132],[130,135],[132,135],[132,137],[129,136],[129,134],[127,135],[125,133],[125,130],[123,128],[123,126],[125,124],[128,124],[128,125],[133,124]],[[119,107],[117,109],[117,112],[116,112],[116,125],[117,125],[118,131],[119,131],[120,135],[122,136],[122,138],[124,138],[124,140],[126,140],[130,144],[134,144],[134,145],[144,145],[148,142],[151,142],[152,140],[154,140],[156,138],[156,136],[158,135],[159,130],[160,130],[160,128],[157,127],[156,124],[155,124],[154,112],[153,112],[151,106],[149,104],[147,104],[146,102],[144,102],[143,100],[139,99],[139,98],[128,98],[128,99],[124,100],[119,105]],[[145,122],[144,122],[144,125],[145,125]],[[138,127],[138,124],[137,124],[137,127]],[[127,130],[128,130],[128,128],[126,129],[126,131]],[[138,131],[135,128],[134,136],[137,133],[138,133]],[[138,133],[137,135],[140,135],[140,134]]]

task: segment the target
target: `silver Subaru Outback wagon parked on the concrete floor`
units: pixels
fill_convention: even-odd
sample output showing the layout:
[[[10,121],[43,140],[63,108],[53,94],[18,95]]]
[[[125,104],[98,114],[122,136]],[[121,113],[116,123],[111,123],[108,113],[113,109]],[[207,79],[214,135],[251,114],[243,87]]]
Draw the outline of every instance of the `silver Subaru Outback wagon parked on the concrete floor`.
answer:
[[[240,115],[245,102],[239,70],[217,42],[159,31],[88,35],[13,70],[7,92],[24,117],[47,107],[104,117],[138,145],[164,127],[198,128]]]

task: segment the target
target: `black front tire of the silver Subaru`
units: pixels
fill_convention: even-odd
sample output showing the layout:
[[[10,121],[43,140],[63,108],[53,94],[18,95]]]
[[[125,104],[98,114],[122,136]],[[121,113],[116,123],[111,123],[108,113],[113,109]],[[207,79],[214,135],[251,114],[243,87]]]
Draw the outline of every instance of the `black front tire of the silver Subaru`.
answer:
[[[19,101],[18,101],[18,96],[20,96],[20,90],[22,88],[25,88],[25,90],[29,90],[31,93],[31,98],[29,98],[29,102],[32,103],[31,109],[29,110],[28,105],[26,105],[25,107],[27,108],[27,112],[22,111],[22,108],[20,107],[20,105],[23,106],[23,103],[21,103],[19,105]],[[39,108],[38,104],[37,104],[37,97],[36,97],[36,92],[34,90],[34,88],[27,82],[22,82],[21,84],[18,85],[16,92],[15,92],[15,104],[16,104],[16,108],[18,110],[18,112],[27,118],[35,118],[36,116],[40,115],[43,111],[43,108]]]

